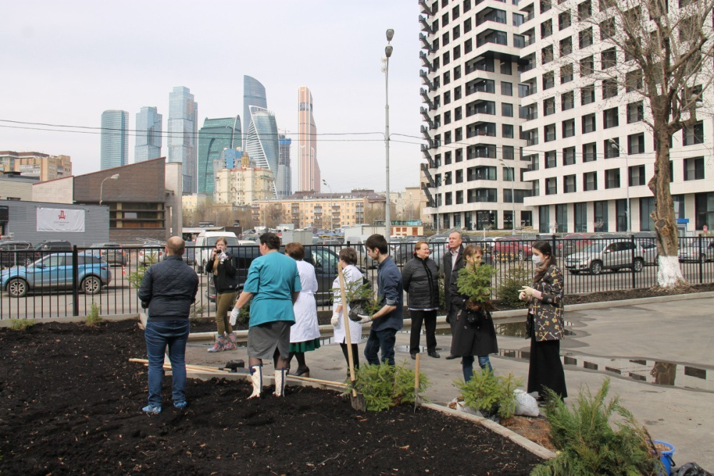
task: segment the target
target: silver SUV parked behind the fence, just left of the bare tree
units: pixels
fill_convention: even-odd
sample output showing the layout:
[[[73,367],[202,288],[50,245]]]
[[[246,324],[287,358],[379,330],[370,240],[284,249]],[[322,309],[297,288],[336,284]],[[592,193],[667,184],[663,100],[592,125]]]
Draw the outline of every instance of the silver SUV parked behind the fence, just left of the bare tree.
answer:
[[[643,248],[632,240],[593,243],[582,251],[565,257],[565,269],[573,274],[584,272],[598,275],[603,270],[625,268],[640,273],[644,266]]]

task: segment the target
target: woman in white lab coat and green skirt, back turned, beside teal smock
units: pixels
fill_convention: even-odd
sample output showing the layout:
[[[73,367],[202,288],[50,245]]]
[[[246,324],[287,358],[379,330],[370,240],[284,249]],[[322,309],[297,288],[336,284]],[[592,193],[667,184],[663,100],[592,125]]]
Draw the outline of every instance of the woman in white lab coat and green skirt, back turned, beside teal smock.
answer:
[[[293,356],[298,360],[298,369],[293,375],[310,376],[310,368],[305,363],[305,353],[320,347],[320,328],[317,322],[317,277],[315,267],[306,261],[305,248],[300,243],[285,245],[285,254],[297,261],[302,290],[293,304],[295,324],[290,328],[290,356],[288,369]]]

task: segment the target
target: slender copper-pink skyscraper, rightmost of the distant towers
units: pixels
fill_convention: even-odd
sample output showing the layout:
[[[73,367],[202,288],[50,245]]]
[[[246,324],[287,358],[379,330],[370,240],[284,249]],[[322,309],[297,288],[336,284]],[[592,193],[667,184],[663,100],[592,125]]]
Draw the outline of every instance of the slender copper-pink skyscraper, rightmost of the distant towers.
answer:
[[[312,93],[298,88],[298,191],[320,191],[317,163],[317,129],[312,109]]]

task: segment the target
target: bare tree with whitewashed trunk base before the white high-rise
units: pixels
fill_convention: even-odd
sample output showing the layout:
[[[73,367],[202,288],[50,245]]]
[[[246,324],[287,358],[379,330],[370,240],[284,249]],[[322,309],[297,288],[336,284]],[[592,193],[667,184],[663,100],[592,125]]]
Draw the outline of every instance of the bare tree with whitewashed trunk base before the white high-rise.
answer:
[[[685,284],[670,193],[670,144],[678,131],[694,133],[703,95],[714,78],[713,6],[714,0],[600,0],[596,15],[578,6],[580,19],[598,26],[605,49],[608,44],[615,49],[603,55],[603,75],[632,94],[628,97],[645,102],[645,113],[638,115],[655,143],[655,172],[648,188],[655,196],[650,217],[657,235],[658,284],[663,288]]]

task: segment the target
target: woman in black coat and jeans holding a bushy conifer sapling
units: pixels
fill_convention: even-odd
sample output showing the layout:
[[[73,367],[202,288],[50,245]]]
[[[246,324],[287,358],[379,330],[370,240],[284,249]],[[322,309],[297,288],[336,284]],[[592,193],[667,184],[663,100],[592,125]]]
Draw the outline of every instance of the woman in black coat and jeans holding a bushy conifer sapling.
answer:
[[[481,246],[468,245],[463,250],[466,266],[471,266],[472,263],[481,265],[482,256]],[[453,273],[449,283],[451,305],[460,310],[451,337],[451,355],[461,357],[463,380],[468,382],[473,377],[474,355],[478,357],[478,365],[483,370],[493,372],[488,354],[498,353],[498,342],[496,328],[493,327],[493,318],[491,318],[491,305],[482,303],[478,308],[469,305],[468,296],[458,292],[457,279],[458,273]]]

